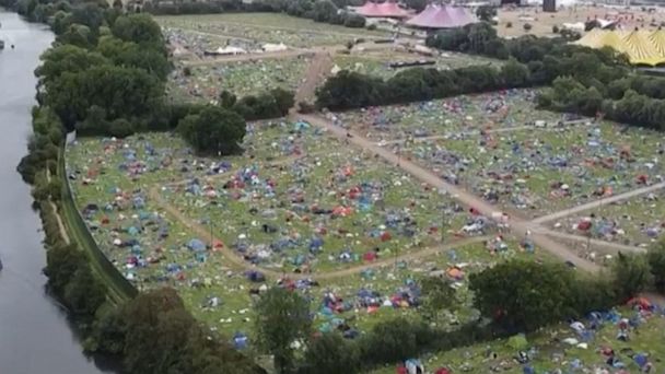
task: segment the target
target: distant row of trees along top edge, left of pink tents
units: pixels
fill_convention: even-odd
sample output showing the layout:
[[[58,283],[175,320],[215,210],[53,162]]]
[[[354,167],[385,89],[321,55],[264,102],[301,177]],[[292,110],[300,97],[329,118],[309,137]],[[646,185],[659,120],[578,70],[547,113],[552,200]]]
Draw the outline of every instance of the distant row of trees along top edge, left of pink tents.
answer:
[[[210,14],[230,12],[273,12],[325,22],[347,27],[364,27],[362,15],[345,11],[348,4],[360,5],[361,1],[346,0],[260,0],[245,3],[241,0],[222,1],[145,1],[143,11],[152,14]]]

